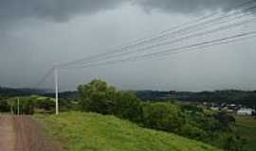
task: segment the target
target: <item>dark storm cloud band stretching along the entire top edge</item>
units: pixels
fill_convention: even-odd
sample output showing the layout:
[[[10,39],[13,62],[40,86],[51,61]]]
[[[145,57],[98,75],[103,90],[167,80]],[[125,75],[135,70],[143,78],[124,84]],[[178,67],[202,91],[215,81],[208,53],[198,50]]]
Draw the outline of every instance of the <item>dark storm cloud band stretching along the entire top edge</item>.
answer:
[[[132,0],[0,0],[1,25],[25,18],[43,18],[57,22],[67,21],[77,14],[91,14],[117,8]],[[230,8],[245,0],[134,0],[133,4],[146,9],[168,12],[195,13],[204,10]]]

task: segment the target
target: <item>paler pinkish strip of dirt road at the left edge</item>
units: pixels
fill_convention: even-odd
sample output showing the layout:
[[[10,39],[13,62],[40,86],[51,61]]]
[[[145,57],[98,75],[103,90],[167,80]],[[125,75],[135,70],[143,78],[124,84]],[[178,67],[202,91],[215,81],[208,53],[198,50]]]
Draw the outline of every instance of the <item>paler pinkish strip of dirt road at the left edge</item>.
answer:
[[[0,150],[14,151],[15,131],[10,115],[0,115]]]

